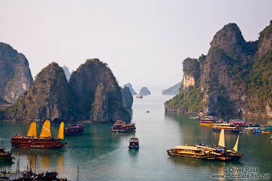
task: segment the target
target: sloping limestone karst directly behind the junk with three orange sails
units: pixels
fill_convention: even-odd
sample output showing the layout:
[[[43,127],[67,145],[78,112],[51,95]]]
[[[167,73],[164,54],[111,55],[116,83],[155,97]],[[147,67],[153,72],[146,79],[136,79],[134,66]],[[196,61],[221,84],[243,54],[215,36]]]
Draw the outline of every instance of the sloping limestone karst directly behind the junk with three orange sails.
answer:
[[[35,81],[12,107],[10,118],[15,120],[67,120],[69,87],[59,65],[51,63],[35,77]]]

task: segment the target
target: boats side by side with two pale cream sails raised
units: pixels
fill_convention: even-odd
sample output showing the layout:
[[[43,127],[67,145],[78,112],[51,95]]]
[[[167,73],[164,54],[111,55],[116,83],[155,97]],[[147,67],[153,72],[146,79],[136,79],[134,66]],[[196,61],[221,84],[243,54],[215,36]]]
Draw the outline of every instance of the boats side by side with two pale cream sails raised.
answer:
[[[225,148],[224,129],[221,130],[218,145],[178,145],[172,149],[166,150],[170,156],[179,156],[186,158],[206,159],[206,160],[239,160],[243,154],[238,153],[239,135],[232,150]]]

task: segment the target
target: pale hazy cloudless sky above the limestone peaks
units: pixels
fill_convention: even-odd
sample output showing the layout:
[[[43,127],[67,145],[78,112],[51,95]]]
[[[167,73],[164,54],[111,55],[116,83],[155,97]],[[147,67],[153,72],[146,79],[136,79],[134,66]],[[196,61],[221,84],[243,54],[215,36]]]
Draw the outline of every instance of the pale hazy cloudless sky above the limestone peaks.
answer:
[[[161,92],[182,81],[182,62],[207,54],[213,36],[236,23],[256,41],[272,1],[3,1],[0,42],[23,53],[35,77],[51,62],[76,70],[107,63],[120,86]]]

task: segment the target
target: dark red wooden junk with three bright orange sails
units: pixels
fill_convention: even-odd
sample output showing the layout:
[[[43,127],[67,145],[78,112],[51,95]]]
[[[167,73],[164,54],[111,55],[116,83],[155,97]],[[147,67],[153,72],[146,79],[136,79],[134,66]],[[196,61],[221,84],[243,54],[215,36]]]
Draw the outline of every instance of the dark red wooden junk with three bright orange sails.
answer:
[[[62,143],[64,123],[62,122],[57,131],[56,138],[51,136],[50,121],[44,122],[40,136],[37,137],[36,123],[32,122],[28,130],[27,136],[12,136],[11,145],[13,147],[25,147],[25,148],[61,148],[67,143]]]

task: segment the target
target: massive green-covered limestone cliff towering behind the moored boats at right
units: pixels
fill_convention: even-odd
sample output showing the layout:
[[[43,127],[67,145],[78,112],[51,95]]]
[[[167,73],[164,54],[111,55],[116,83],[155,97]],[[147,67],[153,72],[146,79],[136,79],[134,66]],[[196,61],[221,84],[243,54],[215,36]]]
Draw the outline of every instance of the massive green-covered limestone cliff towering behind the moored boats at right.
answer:
[[[245,42],[236,24],[225,25],[207,55],[185,59],[181,91],[165,110],[271,117],[271,29],[270,24],[258,41]]]

